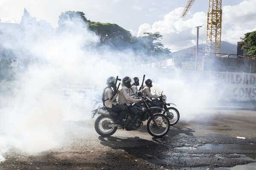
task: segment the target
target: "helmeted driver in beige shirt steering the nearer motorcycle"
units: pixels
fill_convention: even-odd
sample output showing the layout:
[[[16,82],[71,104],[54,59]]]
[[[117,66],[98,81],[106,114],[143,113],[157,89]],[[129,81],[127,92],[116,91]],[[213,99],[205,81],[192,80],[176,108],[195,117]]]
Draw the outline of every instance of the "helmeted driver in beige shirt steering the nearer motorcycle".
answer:
[[[135,115],[132,121],[132,125],[134,125],[137,122],[137,119],[139,119],[140,113],[137,110],[137,108],[135,108],[130,103],[142,102],[143,99],[134,99],[129,95],[129,88],[131,88],[131,81],[132,80],[130,77],[124,77],[122,79],[122,84],[121,84],[122,87],[120,88],[120,92],[118,94],[118,103],[127,105],[129,113]]]

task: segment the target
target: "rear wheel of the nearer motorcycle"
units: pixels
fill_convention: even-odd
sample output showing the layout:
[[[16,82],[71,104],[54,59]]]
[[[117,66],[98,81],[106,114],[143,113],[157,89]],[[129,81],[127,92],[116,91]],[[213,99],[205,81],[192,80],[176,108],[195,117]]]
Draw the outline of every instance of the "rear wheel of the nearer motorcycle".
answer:
[[[94,128],[100,136],[111,136],[113,135],[117,127],[109,127],[108,125],[115,124],[113,118],[101,115],[97,117]]]

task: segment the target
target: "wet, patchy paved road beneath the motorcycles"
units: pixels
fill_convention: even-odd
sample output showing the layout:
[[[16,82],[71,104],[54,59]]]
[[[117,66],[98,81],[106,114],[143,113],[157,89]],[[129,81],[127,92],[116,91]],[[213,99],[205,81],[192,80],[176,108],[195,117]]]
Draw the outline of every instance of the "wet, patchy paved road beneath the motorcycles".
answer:
[[[113,136],[102,137],[94,130],[95,119],[66,122],[61,146],[37,154],[9,150],[0,170],[173,170],[255,162],[256,111],[216,109],[204,110],[190,121],[184,121],[181,115],[177,125],[160,139],[150,136],[145,126],[137,131],[117,130]],[[206,144],[237,145],[228,150],[199,149]],[[243,146],[252,148],[244,150]]]

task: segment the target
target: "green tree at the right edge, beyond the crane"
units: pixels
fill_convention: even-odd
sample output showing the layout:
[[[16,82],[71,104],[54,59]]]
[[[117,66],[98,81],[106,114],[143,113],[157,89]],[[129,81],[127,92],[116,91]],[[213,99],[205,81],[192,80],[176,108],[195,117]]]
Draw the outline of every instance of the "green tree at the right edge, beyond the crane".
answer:
[[[242,40],[242,49],[247,50],[247,54],[256,55],[256,31],[244,34]],[[256,59],[254,56],[252,59]]]

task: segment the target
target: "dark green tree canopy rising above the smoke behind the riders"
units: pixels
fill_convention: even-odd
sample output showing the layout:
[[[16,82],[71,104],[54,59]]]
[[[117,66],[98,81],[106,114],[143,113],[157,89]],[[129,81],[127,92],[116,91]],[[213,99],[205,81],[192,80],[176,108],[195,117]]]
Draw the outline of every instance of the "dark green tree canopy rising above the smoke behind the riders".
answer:
[[[59,27],[65,28],[66,20],[82,18],[91,31],[99,36],[98,46],[107,45],[113,50],[132,49],[137,56],[168,57],[170,49],[164,48],[160,40],[163,38],[159,32],[144,33],[143,37],[132,37],[130,31],[111,23],[100,23],[87,20],[85,14],[79,11],[66,11],[59,16]]]

